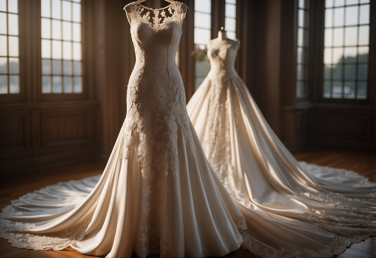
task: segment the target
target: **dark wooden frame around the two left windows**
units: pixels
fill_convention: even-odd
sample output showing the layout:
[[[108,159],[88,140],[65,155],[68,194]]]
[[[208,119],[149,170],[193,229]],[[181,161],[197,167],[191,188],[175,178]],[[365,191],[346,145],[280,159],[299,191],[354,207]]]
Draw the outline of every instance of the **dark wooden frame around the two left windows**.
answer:
[[[86,83],[86,49],[85,9],[86,0],[81,0],[81,93],[42,93],[42,56],[41,56],[41,1],[18,0],[18,37],[19,37],[19,70],[20,93],[0,94],[0,105],[27,102],[64,102],[89,99],[89,88]]]

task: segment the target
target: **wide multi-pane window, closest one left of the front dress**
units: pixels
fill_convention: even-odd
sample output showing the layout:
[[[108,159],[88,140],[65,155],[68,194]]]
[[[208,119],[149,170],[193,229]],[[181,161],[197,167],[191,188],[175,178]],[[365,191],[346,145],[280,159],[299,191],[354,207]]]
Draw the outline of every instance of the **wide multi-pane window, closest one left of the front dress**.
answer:
[[[41,0],[42,93],[82,93],[80,0]]]

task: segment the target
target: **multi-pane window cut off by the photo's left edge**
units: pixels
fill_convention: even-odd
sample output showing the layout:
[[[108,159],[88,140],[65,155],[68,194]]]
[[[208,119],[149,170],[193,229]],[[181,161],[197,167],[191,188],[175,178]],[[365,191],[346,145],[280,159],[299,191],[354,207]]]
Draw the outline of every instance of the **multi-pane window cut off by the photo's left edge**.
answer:
[[[18,0],[0,0],[0,94],[20,93]]]

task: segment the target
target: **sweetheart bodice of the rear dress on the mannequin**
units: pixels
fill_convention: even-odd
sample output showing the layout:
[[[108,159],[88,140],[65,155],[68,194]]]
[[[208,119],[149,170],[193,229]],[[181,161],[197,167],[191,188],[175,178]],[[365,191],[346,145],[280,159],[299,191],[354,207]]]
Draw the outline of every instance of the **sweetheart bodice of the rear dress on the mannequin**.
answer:
[[[235,59],[237,51],[231,47],[215,50],[208,49],[208,58],[210,61],[209,76],[212,79],[223,80],[237,75],[235,71]]]

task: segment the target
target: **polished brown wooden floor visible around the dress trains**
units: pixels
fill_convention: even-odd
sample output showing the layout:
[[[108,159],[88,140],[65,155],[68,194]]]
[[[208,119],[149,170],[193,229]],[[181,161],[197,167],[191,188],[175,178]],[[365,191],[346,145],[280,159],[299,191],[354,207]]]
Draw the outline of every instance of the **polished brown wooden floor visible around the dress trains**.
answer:
[[[318,165],[330,167],[340,167],[355,170],[363,176],[376,182],[376,153],[360,153],[346,151],[311,150],[295,154],[299,160]],[[41,170],[29,173],[21,178],[1,180],[0,182],[0,206],[9,204],[9,200],[17,199],[25,193],[55,184],[60,181],[70,179],[80,179],[90,175],[102,173],[105,164],[96,162],[86,162],[82,164],[69,165],[53,170]],[[12,247],[7,240],[0,239],[0,258],[77,258],[77,257],[101,257],[82,255],[76,251],[36,251],[17,249]],[[136,258],[135,254],[132,258]],[[150,258],[158,257],[150,255]],[[226,258],[256,258],[249,251],[240,248],[235,252],[224,256]],[[336,258],[375,258],[376,257],[376,237],[368,238],[361,243],[352,244],[341,255]]]

